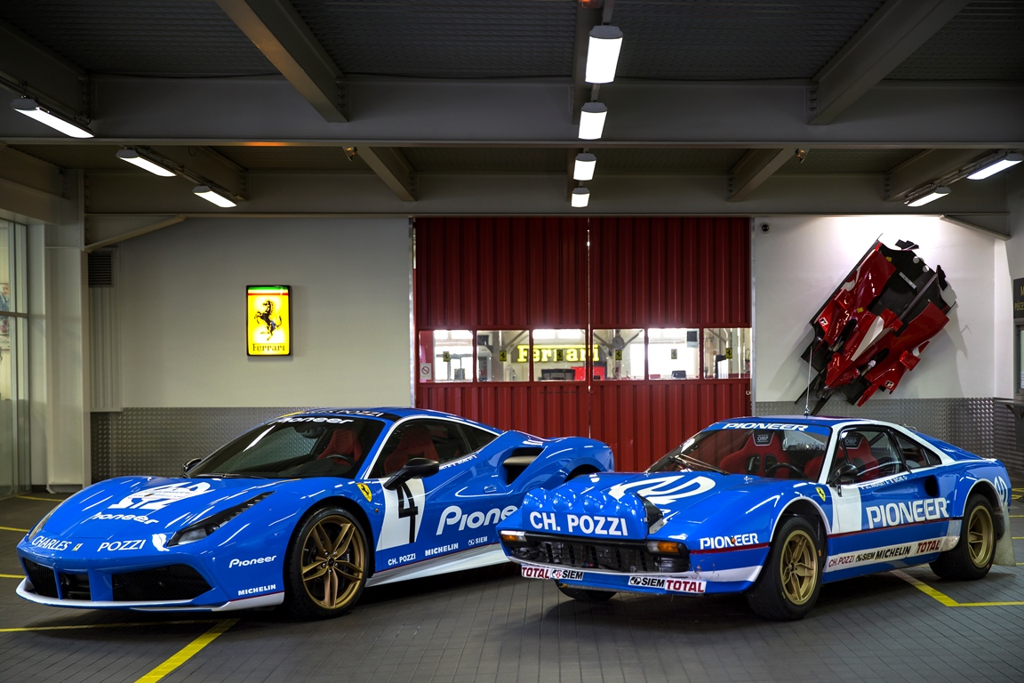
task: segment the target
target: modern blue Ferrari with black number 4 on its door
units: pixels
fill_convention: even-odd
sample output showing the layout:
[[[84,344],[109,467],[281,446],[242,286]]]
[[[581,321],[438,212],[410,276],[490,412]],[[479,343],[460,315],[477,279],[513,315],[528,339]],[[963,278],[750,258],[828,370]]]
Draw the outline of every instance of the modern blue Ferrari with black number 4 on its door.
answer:
[[[287,415],[183,468],[54,508],[17,553],[22,597],[59,607],[350,608],[365,586],[504,562],[526,492],[612,469],[607,445],[411,409]]]

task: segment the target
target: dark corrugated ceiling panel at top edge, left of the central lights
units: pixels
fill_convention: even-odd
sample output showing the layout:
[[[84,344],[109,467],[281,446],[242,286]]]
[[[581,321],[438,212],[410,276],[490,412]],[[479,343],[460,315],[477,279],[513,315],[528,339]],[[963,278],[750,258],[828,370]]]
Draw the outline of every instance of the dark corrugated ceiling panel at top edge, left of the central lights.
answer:
[[[570,76],[572,0],[295,0],[346,74]]]

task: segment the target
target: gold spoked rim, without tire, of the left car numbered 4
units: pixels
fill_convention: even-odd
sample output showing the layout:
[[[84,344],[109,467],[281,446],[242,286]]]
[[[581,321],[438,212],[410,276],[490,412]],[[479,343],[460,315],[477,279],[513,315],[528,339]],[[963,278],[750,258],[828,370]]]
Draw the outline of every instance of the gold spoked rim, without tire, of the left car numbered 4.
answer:
[[[362,535],[354,522],[340,515],[319,520],[302,542],[302,585],[325,609],[348,605],[366,565]]]

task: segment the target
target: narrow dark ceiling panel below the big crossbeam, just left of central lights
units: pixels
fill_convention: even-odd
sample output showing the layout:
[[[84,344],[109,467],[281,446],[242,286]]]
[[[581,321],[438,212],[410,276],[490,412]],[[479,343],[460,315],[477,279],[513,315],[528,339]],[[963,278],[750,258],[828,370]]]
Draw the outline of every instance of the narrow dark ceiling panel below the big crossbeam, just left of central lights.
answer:
[[[404,147],[402,154],[425,173],[563,173],[564,148],[527,147]]]

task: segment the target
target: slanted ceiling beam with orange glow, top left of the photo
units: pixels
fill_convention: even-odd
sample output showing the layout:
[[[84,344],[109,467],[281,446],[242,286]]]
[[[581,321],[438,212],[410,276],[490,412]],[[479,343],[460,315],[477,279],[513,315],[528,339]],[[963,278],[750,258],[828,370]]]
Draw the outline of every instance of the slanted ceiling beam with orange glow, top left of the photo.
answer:
[[[326,121],[348,121],[341,70],[288,0],[217,4]]]

